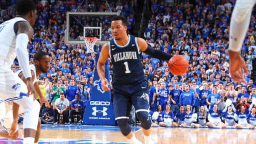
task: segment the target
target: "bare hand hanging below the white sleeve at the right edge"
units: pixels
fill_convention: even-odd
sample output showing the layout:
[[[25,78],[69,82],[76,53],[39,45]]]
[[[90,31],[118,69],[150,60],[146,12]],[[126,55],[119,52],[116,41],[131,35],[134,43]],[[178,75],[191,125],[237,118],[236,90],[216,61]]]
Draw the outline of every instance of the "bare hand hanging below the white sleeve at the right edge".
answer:
[[[237,82],[243,82],[247,84],[244,76],[242,75],[241,68],[244,69],[246,74],[249,74],[249,71],[246,68],[245,60],[241,57],[240,52],[234,52],[229,50],[229,69],[231,78]]]

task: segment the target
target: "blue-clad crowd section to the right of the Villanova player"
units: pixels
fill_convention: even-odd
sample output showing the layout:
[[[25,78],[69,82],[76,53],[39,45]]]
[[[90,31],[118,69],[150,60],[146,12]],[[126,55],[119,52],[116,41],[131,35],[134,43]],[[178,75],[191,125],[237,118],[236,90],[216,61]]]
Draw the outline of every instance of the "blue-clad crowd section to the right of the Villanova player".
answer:
[[[173,6],[157,0],[151,3],[152,15],[144,32],[148,45],[172,55],[183,55],[189,61],[188,71],[176,76],[169,72],[167,62],[150,58],[148,55],[142,57],[145,75],[149,81],[151,111],[158,111],[159,107],[163,111],[158,112],[158,118],[154,118],[159,125],[166,126],[166,123],[162,123],[164,118],[174,120],[175,117],[180,116],[176,114],[181,111],[182,113],[185,111],[182,115],[185,116],[186,121],[192,115],[188,116],[190,111],[187,111],[187,108],[197,113],[201,110],[200,106],[202,111],[209,108],[209,115],[212,116],[210,110],[216,105],[217,110],[220,111],[217,115],[222,117],[222,110],[226,106],[224,102],[227,99],[232,101],[234,112],[236,112],[235,108],[238,112],[244,109],[251,110],[250,104],[256,98],[252,66],[256,56],[254,39],[256,21],[255,15],[252,15],[241,49],[241,55],[250,72],[243,73],[247,84],[234,82],[229,74],[228,55],[229,23],[234,5],[235,0],[208,2],[196,0],[195,4],[185,1],[185,3],[174,3]],[[174,116],[166,114],[167,107],[168,112],[173,112]],[[246,113],[246,116],[247,114],[249,123],[250,112]],[[226,114],[223,115],[224,119],[225,116]],[[238,117],[240,118],[239,114]],[[210,118],[203,119],[210,122]],[[241,121],[239,120],[238,123]],[[179,124],[184,123],[179,122]],[[176,123],[171,125],[177,126]],[[209,123],[206,125],[213,126]],[[224,127],[218,123],[214,126]],[[249,125],[246,127],[254,128]]]

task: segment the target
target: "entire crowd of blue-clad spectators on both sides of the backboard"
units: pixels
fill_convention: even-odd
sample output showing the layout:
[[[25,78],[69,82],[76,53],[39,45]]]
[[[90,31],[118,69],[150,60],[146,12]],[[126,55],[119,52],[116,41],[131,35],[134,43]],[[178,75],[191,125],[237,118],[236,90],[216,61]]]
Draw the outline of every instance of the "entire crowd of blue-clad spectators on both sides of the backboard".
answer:
[[[33,64],[34,53],[43,50],[51,57],[48,73],[40,75],[40,84],[45,88],[46,97],[52,108],[42,110],[42,118],[50,119],[49,123],[58,122],[57,114],[62,110],[73,110],[79,113],[90,100],[90,94],[95,72],[95,53],[87,53],[85,44],[65,44],[66,12],[120,12],[127,17],[128,33],[133,32],[137,11],[137,1],[110,0],[39,0],[37,1],[37,22],[34,25],[34,36],[28,43],[30,63]],[[235,0],[211,0],[204,3],[196,0],[169,5],[164,1],[153,0],[150,4],[151,18],[144,32],[147,43],[155,48],[172,55],[183,55],[189,61],[187,73],[172,75],[167,62],[150,58],[143,54],[142,65],[150,87],[151,111],[165,110],[170,104],[171,111],[180,112],[191,106],[192,112],[199,112],[199,106],[206,105],[212,110],[217,104],[219,110],[225,107],[224,101],[230,99],[235,108],[246,107],[256,98],[256,85],[251,77],[252,61],[255,59],[255,16],[246,34],[241,54],[244,56],[250,74],[245,74],[248,84],[234,82],[229,75],[229,23]],[[2,0],[1,21],[15,17],[16,0]],[[92,25],[90,19],[78,19],[84,26]],[[111,39],[110,17],[98,20],[103,23],[102,39]],[[81,31],[76,28],[78,23],[70,24],[70,39],[81,39]],[[110,62],[110,75],[113,65]],[[13,71],[20,69],[15,61]],[[112,77],[111,77],[112,78]],[[61,95],[69,101],[67,108],[55,105],[63,101]],[[191,96],[191,98],[187,98]],[[214,95],[214,98],[211,96]],[[75,98],[76,97],[76,98]],[[77,97],[83,102],[72,105]],[[167,97],[167,98],[166,98]],[[66,101],[66,100],[65,100]],[[63,104],[63,103],[62,103]],[[81,106],[82,105],[82,106]],[[72,107],[73,106],[73,107]],[[212,106],[212,107],[209,107]],[[237,107],[236,107],[237,106]],[[161,107],[161,108],[159,108]],[[70,114],[66,112],[63,122],[71,122]],[[160,121],[163,121],[163,119]],[[46,123],[47,123],[46,120]],[[165,126],[164,123],[161,123]]]

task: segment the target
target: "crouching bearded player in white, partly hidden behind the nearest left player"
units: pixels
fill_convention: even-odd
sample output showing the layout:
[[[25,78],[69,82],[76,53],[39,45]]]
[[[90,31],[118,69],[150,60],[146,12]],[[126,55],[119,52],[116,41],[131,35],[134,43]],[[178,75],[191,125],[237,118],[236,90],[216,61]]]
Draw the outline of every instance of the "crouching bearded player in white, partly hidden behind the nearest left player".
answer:
[[[37,82],[37,77],[41,73],[47,73],[47,71],[49,69],[49,62],[50,62],[49,55],[43,51],[39,51],[34,55],[34,64],[30,65],[30,70],[31,70],[31,75],[32,75],[32,80],[33,80],[35,90],[36,90],[37,94],[39,96],[41,95],[42,97],[43,97],[43,95],[42,95],[42,92],[40,91],[40,88],[39,88],[39,85]],[[19,78],[22,79],[23,82],[26,82],[26,79],[24,78],[22,70],[18,70],[16,72],[16,74],[19,76]],[[45,99],[45,98],[42,98],[42,99]],[[46,100],[44,100],[44,101],[46,101]],[[34,102],[36,102],[36,101],[34,101]],[[2,105],[4,105],[4,102],[0,103],[0,107],[3,107]],[[14,103],[14,105],[17,105],[17,104]],[[41,106],[42,106],[42,103],[41,103]],[[49,107],[48,102],[46,103],[46,106]],[[6,106],[6,108],[8,109],[9,107]],[[7,110],[7,113],[1,119],[1,124],[4,127],[4,129],[0,129],[1,137],[11,138],[11,139],[16,139],[18,137],[18,130],[15,132],[14,135],[9,135],[7,130],[11,129],[13,119],[18,119],[18,117],[23,116],[25,110],[22,107],[18,108],[17,106],[14,106],[14,108],[15,109],[13,109],[13,110],[11,108],[9,108],[10,110]],[[12,111],[18,112],[18,117],[13,118]],[[1,115],[3,115],[3,113],[5,113],[5,111],[4,112],[1,111]],[[14,124],[17,124],[17,123],[14,123]],[[36,137],[34,140],[35,143],[37,143],[39,140],[40,126],[41,126],[41,120],[40,120],[40,118],[38,118],[38,126],[37,126],[37,131],[36,131]]]

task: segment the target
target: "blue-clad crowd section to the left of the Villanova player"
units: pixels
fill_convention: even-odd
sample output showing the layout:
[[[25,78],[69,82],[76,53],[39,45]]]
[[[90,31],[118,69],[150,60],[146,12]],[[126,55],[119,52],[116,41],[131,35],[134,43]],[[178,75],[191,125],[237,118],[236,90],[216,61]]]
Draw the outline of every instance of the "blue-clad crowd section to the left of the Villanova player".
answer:
[[[34,63],[34,54],[41,50],[48,53],[51,58],[48,73],[42,73],[39,77],[40,89],[50,102],[51,108],[43,108],[40,117],[45,124],[59,123],[60,119],[61,122],[70,124],[74,122],[73,115],[80,115],[77,121],[81,124],[84,107],[90,100],[96,53],[88,53],[85,44],[65,44],[66,12],[119,12],[120,15],[127,17],[128,31],[132,32],[137,0],[129,2],[122,0],[107,2],[105,0],[36,0],[36,2],[37,20],[33,26],[34,35],[27,47],[30,64]],[[15,4],[16,0],[1,0],[0,22],[16,16]],[[82,30],[78,28],[79,23],[92,26],[93,22],[102,23],[102,39],[108,40],[112,36],[111,17],[99,17],[94,19],[95,21],[92,21],[91,17],[75,17],[76,20],[72,18],[74,16],[70,20],[70,39],[83,39]],[[14,61],[11,69],[14,72],[20,69],[17,60]]]

